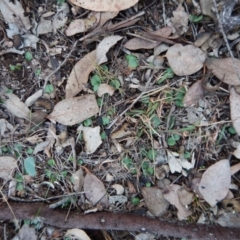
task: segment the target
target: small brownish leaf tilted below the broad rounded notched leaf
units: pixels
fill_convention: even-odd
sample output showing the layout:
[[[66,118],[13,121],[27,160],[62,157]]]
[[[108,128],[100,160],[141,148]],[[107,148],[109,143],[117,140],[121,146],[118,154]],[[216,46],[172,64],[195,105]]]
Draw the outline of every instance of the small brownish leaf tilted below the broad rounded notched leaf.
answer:
[[[202,81],[195,82],[187,91],[183,98],[184,107],[190,107],[198,103],[199,99],[203,97],[204,88]]]

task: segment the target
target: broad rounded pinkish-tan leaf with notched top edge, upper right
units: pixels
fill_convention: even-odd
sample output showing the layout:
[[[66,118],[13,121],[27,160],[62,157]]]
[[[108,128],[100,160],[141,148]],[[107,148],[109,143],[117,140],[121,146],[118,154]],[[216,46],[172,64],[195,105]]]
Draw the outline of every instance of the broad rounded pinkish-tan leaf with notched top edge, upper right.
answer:
[[[193,45],[175,44],[166,53],[169,65],[178,76],[191,75],[203,67],[206,54]]]

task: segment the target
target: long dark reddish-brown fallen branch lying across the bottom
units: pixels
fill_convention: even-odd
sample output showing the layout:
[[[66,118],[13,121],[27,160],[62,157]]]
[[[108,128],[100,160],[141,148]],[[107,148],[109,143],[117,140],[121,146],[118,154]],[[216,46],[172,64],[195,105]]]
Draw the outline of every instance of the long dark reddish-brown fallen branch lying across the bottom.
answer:
[[[158,219],[111,212],[98,212],[84,215],[78,211],[50,209],[45,203],[15,203],[9,202],[12,211],[18,219],[42,217],[45,224],[62,229],[111,229],[135,232],[152,232],[164,236],[187,238],[195,240],[237,240],[240,230],[220,226],[188,224],[186,222],[167,222]],[[67,217],[67,221],[65,221]],[[0,204],[0,220],[13,219],[11,210],[6,203]]]

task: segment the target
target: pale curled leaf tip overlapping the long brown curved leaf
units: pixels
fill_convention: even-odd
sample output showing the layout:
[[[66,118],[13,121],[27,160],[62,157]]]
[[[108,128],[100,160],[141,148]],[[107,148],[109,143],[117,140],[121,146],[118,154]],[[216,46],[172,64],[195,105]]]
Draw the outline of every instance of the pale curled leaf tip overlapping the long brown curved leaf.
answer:
[[[123,37],[115,35],[104,38],[97,46],[96,49],[96,60],[97,64],[101,65],[104,62],[107,62],[107,56],[109,49],[114,46],[119,40]]]

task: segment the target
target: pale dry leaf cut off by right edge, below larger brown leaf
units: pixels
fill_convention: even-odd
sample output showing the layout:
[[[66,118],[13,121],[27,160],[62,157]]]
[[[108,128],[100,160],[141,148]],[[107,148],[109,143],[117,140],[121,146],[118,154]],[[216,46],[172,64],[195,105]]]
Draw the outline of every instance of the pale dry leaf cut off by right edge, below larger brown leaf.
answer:
[[[240,95],[236,93],[233,87],[230,89],[229,101],[233,127],[235,128],[237,134],[240,136]]]

